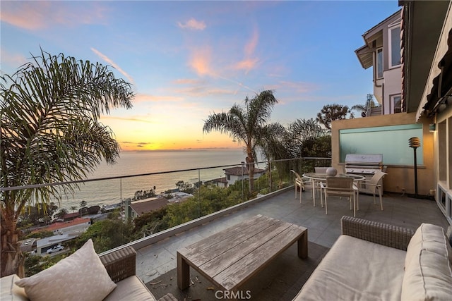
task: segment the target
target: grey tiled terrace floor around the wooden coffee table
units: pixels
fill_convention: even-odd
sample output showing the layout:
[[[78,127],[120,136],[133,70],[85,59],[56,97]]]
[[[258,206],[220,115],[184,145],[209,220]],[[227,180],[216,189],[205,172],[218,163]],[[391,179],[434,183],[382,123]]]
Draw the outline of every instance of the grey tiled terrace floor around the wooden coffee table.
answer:
[[[177,268],[176,252],[179,248],[222,231],[251,216],[262,214],[308,228],[309,260],[318,263],[317,261],[323,257],[340,235],[340,217],[352,215],[347,200],[334,197],[331,202],[328,202],[328,215],[326,215],[324,208],[318,204],[319,202],[316,207],[313,207],[309,191],[303,192],[302,204],[299,204],[299,200],[295,199],[292,187],[273,192],[261,199],[255,199],[247,206],[246,204],[239,205],[234,210],[228,209],[227,212],[218,214],[218,216],[213,214],[213,216],[186,223],[179,226],[180,231],[176,231],[178,233],[169,237],[165,233],[157,233],[145,239],[151,242],[149,245],[144,245],[144,241],[134,242],[132,245],[136,247],[137,251],[137,276],[144,283],[148,283],[148,288],[156,297],[165,295],[165,293],[173,293],[176,297],[183,298],[192,295],[195,299],[199,297],[206,300],[206,297],[209,299],[209,296],[213,296],[213,293],[209,295],[207,290],[213,285],[202,276],[198,276],[196,272],[194,273],[196,275],[194,276],[194,288],[187,289],[187,292],[181,292],[177,288],[175,269]],[[414,229],[421,223],[434,223],[444,228],[448,226],[444,215],[434,201],[396,195],[383,197],[383,211],[380,210],[378,202],[374,204],[371,196],[360,195],[357,217]],[[296,247],[292,246],[286,251],[287,254],[281,254],[278,259],[275,259],[274,264],[270,264],[255,278],[251,278],[247,287],[252,290],[266,290],[273,297],[283,296],[283,300],[292,300],[311,272],[307,270],[302,274],[287,276],[287,270],[281,270],[281,266],[290,268],[298,263],[295,261],[300,259],[296,256],[295,249]],[[278,281],[283,281],[284,285]],[[259,300],[263,295],[267,294],[259,295]],[[272,300],[270,296],[268,300]]]

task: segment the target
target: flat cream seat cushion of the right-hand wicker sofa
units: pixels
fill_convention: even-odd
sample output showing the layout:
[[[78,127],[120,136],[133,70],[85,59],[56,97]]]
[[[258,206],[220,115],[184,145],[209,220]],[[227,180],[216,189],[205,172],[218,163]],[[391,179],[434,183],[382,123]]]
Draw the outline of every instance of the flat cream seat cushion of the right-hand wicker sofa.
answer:
[[[340,235],[294,300],[400,300],[405,254]]]

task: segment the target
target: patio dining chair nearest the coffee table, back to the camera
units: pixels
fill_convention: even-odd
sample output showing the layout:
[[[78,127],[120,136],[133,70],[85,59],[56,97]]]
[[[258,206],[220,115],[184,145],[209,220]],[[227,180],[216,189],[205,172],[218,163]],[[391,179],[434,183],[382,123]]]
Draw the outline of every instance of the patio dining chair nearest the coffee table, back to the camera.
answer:
[[[358,188],[353,183],[353,178],[350,177],[327,177],[325,183],[320,183],[321,193],[320,202],[323,204],[323,197],[325,197],[325,214],[328,214],[328,196],[348,197],[350,202],[350,210],[352,209],[353,199],[353,216],[356,216],[356,202],[358,195]]]

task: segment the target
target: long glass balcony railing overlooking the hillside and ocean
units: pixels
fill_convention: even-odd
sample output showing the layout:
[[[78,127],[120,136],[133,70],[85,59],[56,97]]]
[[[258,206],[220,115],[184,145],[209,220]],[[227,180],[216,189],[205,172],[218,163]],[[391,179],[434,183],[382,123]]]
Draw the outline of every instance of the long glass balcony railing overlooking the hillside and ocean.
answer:
[[[88,238],[93,238],[97,253],[106,252],[249,199],[268,195],[293,185],[291,169],[302,174],[314,171],[316,166],[331,166],[331,159],[259,161],[255,166],[252,192],[249,190],[251,183],[247,166],[242,162],[89,178],[71,183],[0,188],[0,193],[37,186],[53,186],[61,190],[61,199],[51,199],[47,211],[30,206],[18,222],[18,227],[23,231],[21,250],[52,262],[73,252]],[[73,188],[72,193],[64,190],[67,185]],[[37,201],[33,199],[30,204],[39,203]],[[65,249],[52,252],[55,245],[63,245]],[[36,262],[42,265],[42,259],[34,259],[31,263],[25,261],[28,275],[40,270],[26,266]]]

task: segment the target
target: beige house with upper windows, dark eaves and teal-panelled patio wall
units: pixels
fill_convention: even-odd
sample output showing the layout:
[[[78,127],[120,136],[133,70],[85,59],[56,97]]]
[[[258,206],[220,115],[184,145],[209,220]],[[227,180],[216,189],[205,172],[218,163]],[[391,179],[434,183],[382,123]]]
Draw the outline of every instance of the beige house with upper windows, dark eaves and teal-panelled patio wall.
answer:
[[[355,53],[363,68],[374,68],[374,93],[383,110],[333,121],[331,142],[335,168],[343,168],[346,154],[383,154],[385,190],[413,194],[418,188],[419,195],[436,199],[452,224],[451,3],[399,1],[400,12],[364,32],[365,45]],[[417,182],[411,137],[420,140]]]

